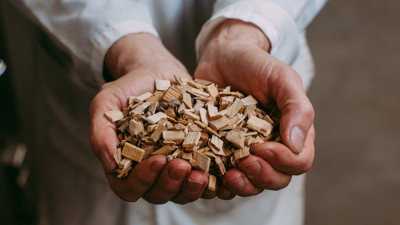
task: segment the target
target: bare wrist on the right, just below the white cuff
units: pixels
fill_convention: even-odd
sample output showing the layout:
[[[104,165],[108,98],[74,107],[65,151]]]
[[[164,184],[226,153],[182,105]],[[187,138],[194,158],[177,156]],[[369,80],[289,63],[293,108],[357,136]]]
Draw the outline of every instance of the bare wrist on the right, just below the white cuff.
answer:
[[[238,43],[253,45],[270,52],[271,43],[264,32],[252,23],[228,19],[219,25],[211,34],[210,42]]]

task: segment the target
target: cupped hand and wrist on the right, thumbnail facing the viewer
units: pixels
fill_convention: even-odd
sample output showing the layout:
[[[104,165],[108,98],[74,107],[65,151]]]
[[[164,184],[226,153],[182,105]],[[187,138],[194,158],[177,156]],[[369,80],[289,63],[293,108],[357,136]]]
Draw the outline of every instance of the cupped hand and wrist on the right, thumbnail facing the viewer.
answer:
[[[266,107],[276,104],[282,112],[283,144],[260,144],[254,155],[229,170],[217,192],[222,199],[285,188],[291,175],[307,172],[314,159],[312,105],[296,71],[272,57],[270,47],[255,25],[227,20],[210,36],[194,73],[195,78],[252,95]]]

